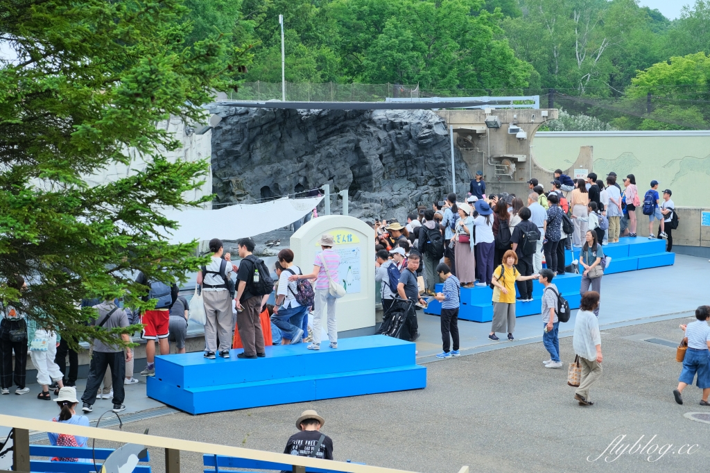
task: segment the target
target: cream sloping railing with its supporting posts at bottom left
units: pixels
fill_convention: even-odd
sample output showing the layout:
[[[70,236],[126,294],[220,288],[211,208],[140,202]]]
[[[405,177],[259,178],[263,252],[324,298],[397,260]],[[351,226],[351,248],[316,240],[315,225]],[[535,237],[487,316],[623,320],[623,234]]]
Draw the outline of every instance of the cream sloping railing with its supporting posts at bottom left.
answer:
[[[241,447],[215,445],[212,443],[180,440],[155,435],[120,432],[82,425],[36,420],[14,415],[0,415],[0,425],[13,428],[13,472],[30,472],[30,431],[63,433],[82,437],[109,440],[110,442],[135,443],[146,447],[165,449],[165,473],[180,473],[180,450],[209,455],[239,457],[263,462],[290,464],[293,473],[304,473],[306,467],[327,469],[344,473],[412,473],[402,469],[372,467],[370,465],[318,460],[311,457],[298,457],[284,453],[263,452]],[[469,467],[461,467],[459,473],[469,473]]]

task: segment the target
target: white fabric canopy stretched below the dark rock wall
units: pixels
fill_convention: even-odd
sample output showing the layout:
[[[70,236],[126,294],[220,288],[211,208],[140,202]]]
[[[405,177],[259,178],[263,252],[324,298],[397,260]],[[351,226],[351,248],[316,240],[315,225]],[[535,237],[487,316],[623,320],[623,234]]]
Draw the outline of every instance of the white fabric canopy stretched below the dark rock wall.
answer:
[[[283,197],[261,204],[237,204],[217,210],[187,209],[165,212],[165,217],[179,222],[173,234],[165,232],[170,243],[213,238],[236,240],[286,227],[311,212],[320,197],[289,199]]]

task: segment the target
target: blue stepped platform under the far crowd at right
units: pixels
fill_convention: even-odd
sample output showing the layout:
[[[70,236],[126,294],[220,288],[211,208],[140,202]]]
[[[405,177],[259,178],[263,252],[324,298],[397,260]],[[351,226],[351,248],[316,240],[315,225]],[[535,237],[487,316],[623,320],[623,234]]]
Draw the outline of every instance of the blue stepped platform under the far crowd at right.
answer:
[[[660,239],[627,237],[620,239],[619,243],[605,245],[603,246],[603,251],[606,256],[611,256],[611,264],[604,270],[604,273],[613,274],[636,271],[637,269],[670,266],[675,262],[675,254],[667,253],[665,244],[665,240]],[[573,258],[579,259],[579,250],[579,248],[574,248],[573,251],[565,251],[565,262],[569,264],[572,263]],[[556,276],[552,282],[555,283],[562,296],[569,302],[569,308],[579,308],[581,301],[581,295],[579,295],[581,275],[566,273]],[[443,284],[437,284],[436,291],[441,292],[443,286]],[[515,295],[520,295],[517,286]],[[493,290],[487,286],[461,288],[459,319],[490,322],[493,320],[492,298]],[[516,302],[515,316],[525,317],[526,315],[539,314],[541,298],[542,284],[532,281],[532,302]],[[432,300],[424,312],[430,315],[441,315],[441,303],[437,300]]]

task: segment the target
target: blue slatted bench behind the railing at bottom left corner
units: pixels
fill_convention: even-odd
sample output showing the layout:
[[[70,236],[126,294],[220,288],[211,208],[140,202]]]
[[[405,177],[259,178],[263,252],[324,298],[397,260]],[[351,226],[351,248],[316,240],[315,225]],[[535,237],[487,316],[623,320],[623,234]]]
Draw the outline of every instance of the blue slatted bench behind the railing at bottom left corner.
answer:
[[[106,460],[113,452],[113,448],[97,448],[95,450],[92,450],[92,448],[90,447],[83,448],[59,447],[54,445],[30,445],[30,457],[60,457],[89,460],[88,463],[30,460],[30,471],[38,473],[91,473],[96,472],[98,469],[99,472],[101,472],[102,464],[99,463],[99,460]],[[97,460],[96,467],[94,467],[94,457],[96,457]],[[150,460],[151,457],[148,454],[146,454],[145,457],[139,459],[139,461],[141,462],[149,462]],[[136,466],[136,469],[134,469],[133,471],[135,473],[151,473],[151,467],[149,465],[138,464],[138,466]]]

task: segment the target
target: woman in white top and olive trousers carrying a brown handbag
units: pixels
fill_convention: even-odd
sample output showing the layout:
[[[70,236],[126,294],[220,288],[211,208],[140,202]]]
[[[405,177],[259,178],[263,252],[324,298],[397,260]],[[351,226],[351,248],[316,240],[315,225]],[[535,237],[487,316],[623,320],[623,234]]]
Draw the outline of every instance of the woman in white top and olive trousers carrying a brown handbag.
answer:
[[[574,398],[579,406],[593,406],[589,401],[589,387],[601,377],[601,335],[599,319],[594,316],[594,309],[599,307],[599,293],[593,290],[585,293],[579,304],[577,319],[574,321],[572,347],[577,355],[576,362],[581,367],[579,387],[574,391]],[[568,381],[569,384],[569,381]]]

